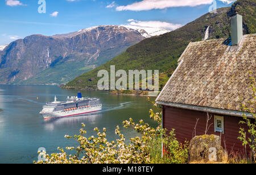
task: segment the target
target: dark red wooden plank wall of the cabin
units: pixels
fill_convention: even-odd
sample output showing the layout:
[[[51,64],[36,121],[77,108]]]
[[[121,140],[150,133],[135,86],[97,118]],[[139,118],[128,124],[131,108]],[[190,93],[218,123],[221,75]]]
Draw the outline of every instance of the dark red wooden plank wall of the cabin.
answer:
[[[213,124],[210,126],[207,134],[221,135],[222,147],[224,149],[226,144],[228,152],[233,150],[234,153],[240,152],[243,154],[245,148],[242,146],[242,142],[237,139],[238,136],[240,136],[240,127],[246,128],[245,124],[239,124],[242,117],[213,113],[209,113],[209,115],[212,115],[212,119],[208,122],[208,126],[210,123]],[[214,115],[224,116],[224,134],[214,132]],[[204,135],[207,123],[207,113],[203,111],[163,106],[163,127],[167,128],[168,133],[174,128],[176,138],[181,143],[184,143],[185,140],[190,141],[195,136],[194,128],[197,118],[199,118],[199,121],[196,126],[196,135]]]

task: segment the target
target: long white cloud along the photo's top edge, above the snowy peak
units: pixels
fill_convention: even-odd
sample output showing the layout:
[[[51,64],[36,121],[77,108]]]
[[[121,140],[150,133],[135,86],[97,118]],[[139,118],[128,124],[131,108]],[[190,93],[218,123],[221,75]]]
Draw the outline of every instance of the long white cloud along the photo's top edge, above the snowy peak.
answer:
[[[127,6],[117,6],[115,9],[117,11],[132,10],[132,11],[142,11],[142,10],[152,10],[152,9],[166,9],[170,7],[195,7],[199,5],[210,5],[214,0],[143,0],[140,2],[132,3]],[[232,1],[232,0],[222,0],[222,1]]]

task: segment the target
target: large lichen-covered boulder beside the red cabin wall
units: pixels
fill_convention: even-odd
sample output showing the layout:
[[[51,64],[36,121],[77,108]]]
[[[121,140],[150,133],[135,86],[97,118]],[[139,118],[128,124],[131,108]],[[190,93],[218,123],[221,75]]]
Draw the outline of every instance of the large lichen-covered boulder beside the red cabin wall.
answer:
[[[224,159],[221,138],[217,135],[195,136],[189,143],[189,161],[217,161]]]

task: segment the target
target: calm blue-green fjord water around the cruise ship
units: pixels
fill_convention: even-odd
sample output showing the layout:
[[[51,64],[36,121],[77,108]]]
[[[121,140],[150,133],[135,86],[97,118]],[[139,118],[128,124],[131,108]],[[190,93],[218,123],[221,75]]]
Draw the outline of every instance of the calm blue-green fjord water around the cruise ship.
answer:
[[[130,137],[137,132],[122,127],[122,121],[133,118],[143,119],[152,127],[156,126],[148,110],[152,108],[147,97],[110,95],[105,91],[81,91],[83,97],[101,99],[102,111],[94,114],[44,120],[39,114],[46,102],[54,96],[65,101],[67,96],[77,96],[76,90],[60,89],[57,86],[0,85],[0,163],[32,163],[38,160],[38,148],[47,153],[58,152],[57,147],[76,146],[74,140],[65,135],[78,135],[81,123],[85,124],[86,136],[94,135],[93,128],[107,129],[107,139],[115,140],[115,127]],[[153,98],[151,100],[154,100]]]

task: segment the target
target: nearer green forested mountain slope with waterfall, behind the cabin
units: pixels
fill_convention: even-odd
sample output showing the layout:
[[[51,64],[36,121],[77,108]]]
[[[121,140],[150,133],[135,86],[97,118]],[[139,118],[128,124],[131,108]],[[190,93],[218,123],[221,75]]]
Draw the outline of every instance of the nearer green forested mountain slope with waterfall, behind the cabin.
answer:
[[[238,0],[231,7],[217,9],[217,13],[207,13],[177,30],[142,40],[113,60],[75,78],[65,88],[97,89],[97,82],[101,78],[97,77],[98,71],[110,71],[110,65],[115,65],[116,70],[159,70],[162,89],[189,42],[230,37],[230,17],[234,12],[243,16],[243,33],[255,34],[256,1]]]

